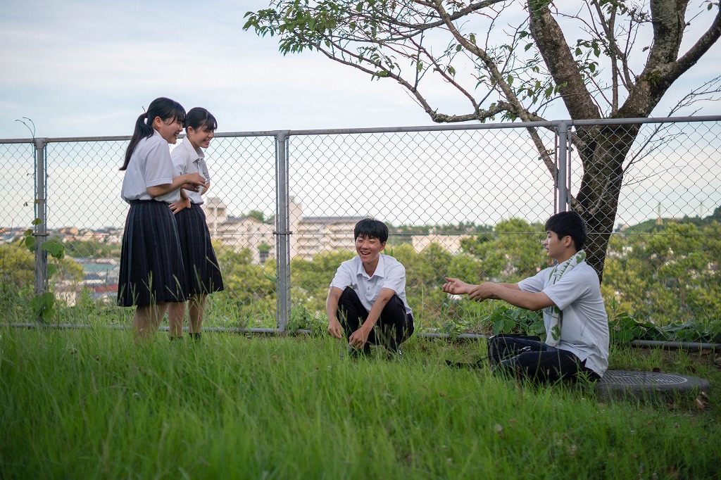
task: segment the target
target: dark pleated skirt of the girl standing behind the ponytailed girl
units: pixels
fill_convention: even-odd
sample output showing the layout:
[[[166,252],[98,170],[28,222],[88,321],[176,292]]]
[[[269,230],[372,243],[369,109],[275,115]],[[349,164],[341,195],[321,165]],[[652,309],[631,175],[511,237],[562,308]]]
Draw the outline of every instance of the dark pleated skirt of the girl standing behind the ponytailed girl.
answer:
[[[205,223],[205,212],[200,205],[190,205],[190,209],[185,208],[174,215],[188,280],[187,291],[195,295],[219,292],[223,290],[223,277]]]

